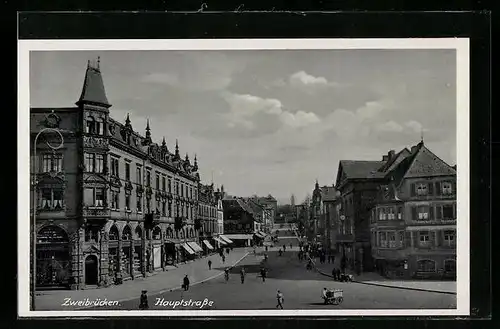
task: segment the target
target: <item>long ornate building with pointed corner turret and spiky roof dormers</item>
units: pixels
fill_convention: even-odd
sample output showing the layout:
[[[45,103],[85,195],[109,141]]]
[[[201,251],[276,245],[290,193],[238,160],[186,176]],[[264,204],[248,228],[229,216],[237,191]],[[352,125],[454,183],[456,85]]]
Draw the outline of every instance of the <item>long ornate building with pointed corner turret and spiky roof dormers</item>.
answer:
[[[128,116],[112,119],[110,107],[97,61],[76,107],[31,108],[39,286],[107,286],[199,251],[196,157],[153,142],[149,122],[142,136]],[[58,129],[63,148],[48,149],[51,134],[34,145],[44,127]]]

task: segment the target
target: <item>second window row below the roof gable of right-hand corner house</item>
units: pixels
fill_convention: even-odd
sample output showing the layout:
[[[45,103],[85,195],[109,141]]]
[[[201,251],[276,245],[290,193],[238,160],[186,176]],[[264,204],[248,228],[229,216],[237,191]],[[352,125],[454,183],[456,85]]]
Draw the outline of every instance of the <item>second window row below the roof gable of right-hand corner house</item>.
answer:
[[[455,204],[421,205],[411,207],[412,220],[454,220],[456,218]],[[377,216],[378,214],[378,216]],[[372,210],[372,222],[376,219],[403,220],[403,207],[377,207]]]

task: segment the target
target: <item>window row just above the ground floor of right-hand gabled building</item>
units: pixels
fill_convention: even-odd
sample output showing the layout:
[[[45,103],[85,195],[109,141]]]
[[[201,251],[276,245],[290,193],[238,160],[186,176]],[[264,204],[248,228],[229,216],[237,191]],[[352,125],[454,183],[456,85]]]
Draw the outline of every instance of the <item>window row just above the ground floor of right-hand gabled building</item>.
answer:
[[[406,232],[411,233],[411,232]],[[454,246],[456,243],[456,232],[453,230],[443,230],[434,232],[435,234],[441,234],[442,244],[445,246]],[[377,239],[378,236],[378,239]],[[410,237],[406,239],[411,240]],[[405,242],[405,231],[377,231],[372,232],[372,243],[376,247],[380,248],[402,248]],[[416,241],[419,247],[430,247],[433,242],[431,241],[431,232],[429,231],[419,231],[418,240]]]

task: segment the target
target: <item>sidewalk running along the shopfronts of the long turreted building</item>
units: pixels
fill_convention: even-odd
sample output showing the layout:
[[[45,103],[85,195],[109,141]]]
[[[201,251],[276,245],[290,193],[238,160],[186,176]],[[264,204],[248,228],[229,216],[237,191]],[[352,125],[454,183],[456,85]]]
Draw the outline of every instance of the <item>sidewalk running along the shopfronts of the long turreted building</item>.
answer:
[[[223,264],[218,254],[203,257],[192,262],[178,265],[165,272],[147,277],[138,278],[123,282],[121,285],[113,285],[107,288],[88,290],[49,290],[37,292],[37,310],[62,310],[67,307],[62,306],[65,298],[72,300],[84,300],[86,298],[95,300],[96,298],[107,298],[111,301],[125,301],[139,298],[142,290],[147,290],[148,295],[173,291],[181,288],[182,279],[187,274],[191,286],[213,279],[224,273],[226,267],[234,266],[245,258],[251,248],[235,248],[226,254],[226,261]],[[208,260],[212,260],[212,270],[208,269]]]

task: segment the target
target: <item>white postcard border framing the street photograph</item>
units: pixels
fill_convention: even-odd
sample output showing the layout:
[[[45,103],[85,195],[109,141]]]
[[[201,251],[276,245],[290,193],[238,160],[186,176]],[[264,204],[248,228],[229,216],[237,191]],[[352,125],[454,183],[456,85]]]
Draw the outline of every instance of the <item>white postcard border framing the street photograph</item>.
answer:
[[[457,308],[408,310],[30,310],[30,51],[95,50],[293,50],[456,49],[457,54]],[[465,316],[470,315],[469,260],[469,39],[164,39],[18,41],[18,315],[19,317],[113,316]]]

